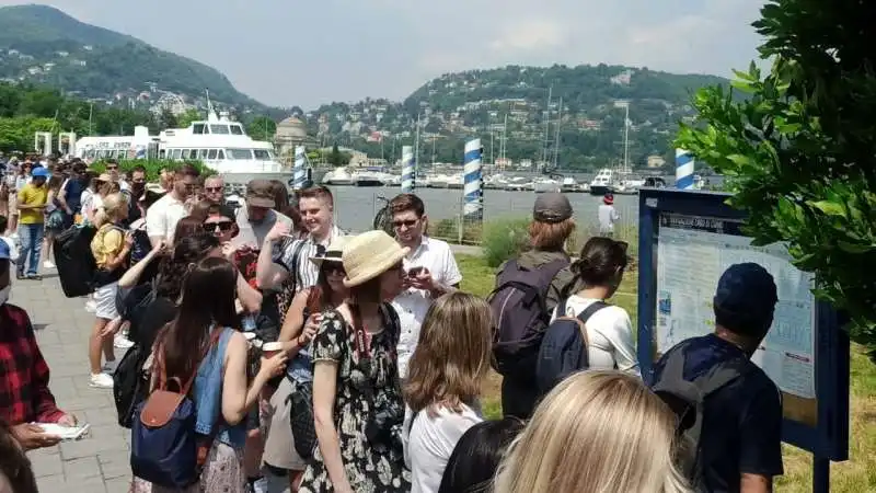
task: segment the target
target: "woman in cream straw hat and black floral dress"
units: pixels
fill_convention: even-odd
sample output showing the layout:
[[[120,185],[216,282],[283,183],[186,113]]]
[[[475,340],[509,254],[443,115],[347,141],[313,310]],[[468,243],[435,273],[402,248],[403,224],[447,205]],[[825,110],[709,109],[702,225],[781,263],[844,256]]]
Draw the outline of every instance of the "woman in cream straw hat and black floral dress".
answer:
[[[383,231],[350,239],[342,255],[349,300],[323,313],[313,340],[313,413],[319,440],[300,492],[407,492],[395,345],[402,248]]]

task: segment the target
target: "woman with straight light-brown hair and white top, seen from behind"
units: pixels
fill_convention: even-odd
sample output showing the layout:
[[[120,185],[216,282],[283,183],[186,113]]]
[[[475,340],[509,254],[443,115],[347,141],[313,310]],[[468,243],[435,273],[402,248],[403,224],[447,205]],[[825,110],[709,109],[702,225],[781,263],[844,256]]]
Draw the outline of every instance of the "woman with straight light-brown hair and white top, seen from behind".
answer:
[[[429,307],[408,364],[405,461],[412,493],[437,493],[460,437],[483,421],[477,397],[489,369],[492,313],[481,298],[445,295]]]

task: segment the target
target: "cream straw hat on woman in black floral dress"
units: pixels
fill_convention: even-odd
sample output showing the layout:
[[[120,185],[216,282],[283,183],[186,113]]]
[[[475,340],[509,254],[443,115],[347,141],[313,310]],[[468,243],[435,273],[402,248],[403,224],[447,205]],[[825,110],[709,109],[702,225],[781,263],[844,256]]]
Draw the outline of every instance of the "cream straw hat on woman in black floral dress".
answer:
[[[344,286],[359,286],[373,279],[401,262],[410,251],[384,231],[368,231],[351,238],[342,254],[347,272]]]

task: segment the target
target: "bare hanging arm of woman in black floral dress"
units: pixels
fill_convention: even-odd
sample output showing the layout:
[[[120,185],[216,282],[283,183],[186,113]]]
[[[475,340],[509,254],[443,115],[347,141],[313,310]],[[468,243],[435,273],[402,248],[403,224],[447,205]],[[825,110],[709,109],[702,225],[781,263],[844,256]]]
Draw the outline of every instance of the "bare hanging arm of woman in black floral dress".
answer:
[[[347,472],[344,470],[344,459],[341,456],[341,438],[335,428],[336,379],[337,362],[325,359],[315,362],[313,365],[313,422],[316,440],[320,444],[320,454],[322,454],[332,485],[338,493],[353,493]]]

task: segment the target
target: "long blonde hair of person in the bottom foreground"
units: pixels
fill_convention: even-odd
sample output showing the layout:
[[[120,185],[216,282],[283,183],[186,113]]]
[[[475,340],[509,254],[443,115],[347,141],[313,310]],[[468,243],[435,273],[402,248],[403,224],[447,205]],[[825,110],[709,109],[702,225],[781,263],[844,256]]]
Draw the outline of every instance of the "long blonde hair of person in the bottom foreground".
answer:
[[[633,376],[590,370],[557,385],[499,465],[502,493],[690,493],[676,415]]]

